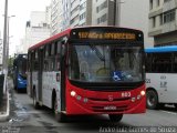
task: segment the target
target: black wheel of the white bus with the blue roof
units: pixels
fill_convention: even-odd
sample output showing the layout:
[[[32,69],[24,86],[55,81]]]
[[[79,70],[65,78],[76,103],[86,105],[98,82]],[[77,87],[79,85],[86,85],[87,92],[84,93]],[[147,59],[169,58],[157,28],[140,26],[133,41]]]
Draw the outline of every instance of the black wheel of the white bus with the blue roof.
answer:
[[[146,108],[150,110],[158,108],[158,95],[154,90],[149,90],[146,93]]]

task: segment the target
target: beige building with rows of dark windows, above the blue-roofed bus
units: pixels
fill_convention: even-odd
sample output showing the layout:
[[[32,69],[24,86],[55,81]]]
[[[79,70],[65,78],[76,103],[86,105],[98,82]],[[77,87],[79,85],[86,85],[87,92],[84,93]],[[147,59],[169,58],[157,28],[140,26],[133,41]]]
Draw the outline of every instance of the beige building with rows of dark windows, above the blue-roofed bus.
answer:
[[[149,0],[149,32],[154,45],[177,44],[177,0]]]

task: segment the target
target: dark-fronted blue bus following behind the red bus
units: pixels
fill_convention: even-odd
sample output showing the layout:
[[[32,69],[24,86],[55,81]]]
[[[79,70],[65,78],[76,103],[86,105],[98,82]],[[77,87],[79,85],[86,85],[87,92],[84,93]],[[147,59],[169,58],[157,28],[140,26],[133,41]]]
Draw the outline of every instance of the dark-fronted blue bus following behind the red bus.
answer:
[[[13,84],[14,89],[27,91],[27,54],[15,54],[13,61]]]

